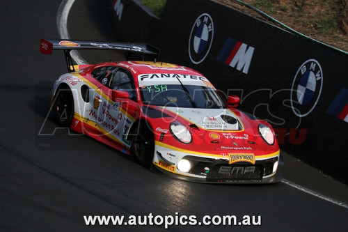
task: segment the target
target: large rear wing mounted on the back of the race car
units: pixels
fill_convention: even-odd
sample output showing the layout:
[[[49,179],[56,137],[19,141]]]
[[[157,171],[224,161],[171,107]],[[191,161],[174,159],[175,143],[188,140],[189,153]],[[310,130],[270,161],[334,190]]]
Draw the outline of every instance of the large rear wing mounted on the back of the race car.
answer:
[[[145,43],[130,42],[95,42],[82,40],[45,40],[40,39],[40,52],[42,54],[52,54],[53,50],[63,50],[68,72],[74,72],[74,63],[70,51],[72,49],[104,49],[125,52],[127,61],[132,53],[154,56],[155,61],[159,56],[159,49]]]

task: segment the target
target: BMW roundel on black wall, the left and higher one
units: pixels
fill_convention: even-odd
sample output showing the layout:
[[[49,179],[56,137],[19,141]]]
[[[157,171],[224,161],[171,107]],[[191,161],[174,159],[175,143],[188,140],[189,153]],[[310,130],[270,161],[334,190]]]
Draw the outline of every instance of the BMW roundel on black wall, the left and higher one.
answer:
[[[189,38],[189,56],[192,63],[204,61],[212,46],[214,24],[207,13],[200,15],[193,24]]]

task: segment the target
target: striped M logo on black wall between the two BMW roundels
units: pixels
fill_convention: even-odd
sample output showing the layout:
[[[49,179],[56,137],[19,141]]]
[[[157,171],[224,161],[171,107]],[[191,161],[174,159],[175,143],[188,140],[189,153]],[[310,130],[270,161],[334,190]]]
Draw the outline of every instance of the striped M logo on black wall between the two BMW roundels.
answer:
[[[254,47],[229,37],[216,59],[248,74],[254,50]]]

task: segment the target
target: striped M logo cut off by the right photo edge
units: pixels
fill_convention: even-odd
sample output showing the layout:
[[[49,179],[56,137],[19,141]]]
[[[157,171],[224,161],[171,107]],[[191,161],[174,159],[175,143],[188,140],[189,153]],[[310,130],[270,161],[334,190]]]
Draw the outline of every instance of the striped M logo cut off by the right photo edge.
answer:
[[[326,113],[348,123],[348,88],[341,88]]]

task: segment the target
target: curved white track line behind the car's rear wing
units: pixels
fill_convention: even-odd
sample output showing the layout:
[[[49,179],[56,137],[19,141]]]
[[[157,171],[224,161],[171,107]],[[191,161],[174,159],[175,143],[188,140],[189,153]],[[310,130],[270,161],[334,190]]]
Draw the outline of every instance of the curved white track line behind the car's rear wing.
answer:
[[[70,12],[70,9],[72,7],[72,4],[74,4],[75,0],[63,0],[61,2],[61,6],[58,8],[58,15],[57,15],[57,26],[58,26],[58,33],[61,39],[70,39],[69,32],[68,32],[68,15]],[[77,52],[76,50],[72,50],[70,52],[72,59],[78,64],[78,65],[84,65],[87,64],[87,61],[82,58],[82,56]]]

